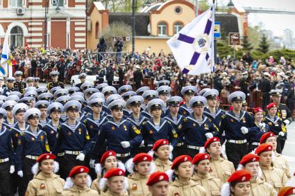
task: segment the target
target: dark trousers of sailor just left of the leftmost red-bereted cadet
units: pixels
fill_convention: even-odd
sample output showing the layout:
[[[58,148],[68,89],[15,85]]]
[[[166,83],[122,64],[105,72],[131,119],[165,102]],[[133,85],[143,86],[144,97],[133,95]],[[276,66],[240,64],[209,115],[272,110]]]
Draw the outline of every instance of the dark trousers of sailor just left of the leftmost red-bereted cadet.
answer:
[[[19,185],[19,196],[24,196],[26,193],[26,188],[28,187],[28,182],[33,179],[34,175],[32,173],[32,167],[36,163],[35,159],[22,159],[22,172],[24,177],[21,178],[21,183]]]

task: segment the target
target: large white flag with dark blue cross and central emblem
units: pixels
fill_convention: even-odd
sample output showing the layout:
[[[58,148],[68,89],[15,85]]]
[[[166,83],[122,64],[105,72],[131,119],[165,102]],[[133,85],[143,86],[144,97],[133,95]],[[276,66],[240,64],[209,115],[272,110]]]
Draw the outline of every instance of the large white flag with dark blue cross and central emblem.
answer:
[[[183,73],[200,75],[214,71],[214,5],[167,41]]]

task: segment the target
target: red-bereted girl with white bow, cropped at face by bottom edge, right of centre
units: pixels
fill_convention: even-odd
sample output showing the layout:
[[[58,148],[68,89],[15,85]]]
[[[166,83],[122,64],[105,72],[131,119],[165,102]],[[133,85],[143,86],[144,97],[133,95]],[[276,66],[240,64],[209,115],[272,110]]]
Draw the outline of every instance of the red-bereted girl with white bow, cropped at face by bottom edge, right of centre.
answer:
[[[251,191],[251,173],[238,170],[228,178],[228,182],[221,188],[222,196],[247,196]]]

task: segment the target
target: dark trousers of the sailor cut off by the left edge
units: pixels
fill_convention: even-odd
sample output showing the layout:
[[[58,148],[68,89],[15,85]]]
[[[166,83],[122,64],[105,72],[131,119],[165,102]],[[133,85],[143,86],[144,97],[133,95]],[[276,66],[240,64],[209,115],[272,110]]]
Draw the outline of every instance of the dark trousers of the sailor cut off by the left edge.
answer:
[[[0,195],[10,195],[10,162],[0,163]]]

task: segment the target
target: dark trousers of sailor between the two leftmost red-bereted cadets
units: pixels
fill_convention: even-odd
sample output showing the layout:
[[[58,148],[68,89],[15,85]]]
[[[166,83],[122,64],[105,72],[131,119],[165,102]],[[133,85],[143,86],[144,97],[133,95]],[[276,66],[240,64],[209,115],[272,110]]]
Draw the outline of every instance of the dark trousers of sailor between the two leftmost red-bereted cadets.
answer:
[[[60,170],[58,173],[62,179],[67,179],[67,177],[69,177],[69,172],[72,168],[74,168],[74,166],[85,165],[85,161],[79,161],[76,157],[76,154],[65,154],[56,159],[56,161],[60,164]]]

